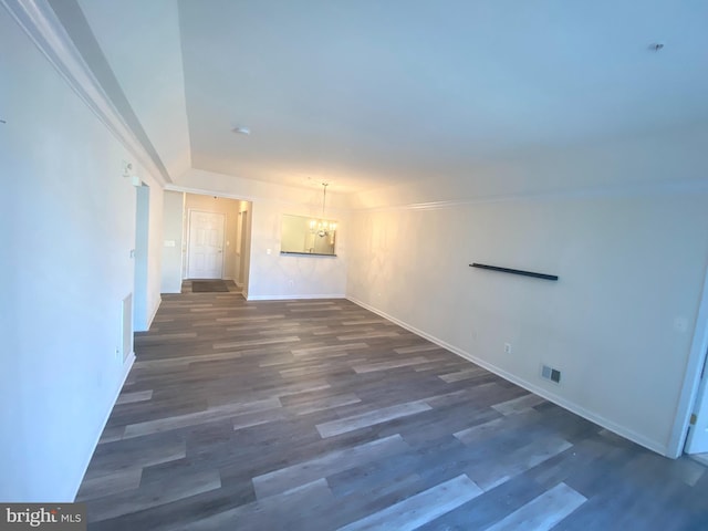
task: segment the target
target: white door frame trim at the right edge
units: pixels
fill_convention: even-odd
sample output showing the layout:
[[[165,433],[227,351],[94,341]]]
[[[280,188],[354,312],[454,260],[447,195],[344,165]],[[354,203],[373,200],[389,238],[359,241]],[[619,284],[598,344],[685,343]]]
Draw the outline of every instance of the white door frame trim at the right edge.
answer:
[[[708,269],[706,269],[706,278],[704,279],[704,291],[698,306],[698,315],[696,317],[696,326],[694,339],[690,344],[688,362],[686,363],[686,373],[684,375],[684,385],[678,397],[676,406],[676,415],[671,434],[668,440],[668,456],[678,457],[684,451],[686,437],[688,436],[688,425],[690,415],[696,407],[698,397],[698,388],[700,386],[700,373],[706,363],[706,351],[708,351]]]

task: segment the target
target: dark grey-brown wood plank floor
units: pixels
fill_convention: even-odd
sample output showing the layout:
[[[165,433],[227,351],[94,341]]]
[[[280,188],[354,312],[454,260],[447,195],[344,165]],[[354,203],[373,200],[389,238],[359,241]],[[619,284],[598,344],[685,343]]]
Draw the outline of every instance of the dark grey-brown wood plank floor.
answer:
[[[163,299],[82,483],[92,530],[708,529],[702,465],[348,301]]]

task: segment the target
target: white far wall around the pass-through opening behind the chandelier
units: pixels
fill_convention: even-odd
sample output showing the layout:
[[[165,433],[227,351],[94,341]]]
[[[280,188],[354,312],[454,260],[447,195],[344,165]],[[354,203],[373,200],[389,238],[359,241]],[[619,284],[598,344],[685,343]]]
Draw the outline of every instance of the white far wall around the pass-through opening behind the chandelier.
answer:
[[[282,215],[317,216],[322,209],[321,188],[290,188],[202,170],[187,173],[176,185],[252,202],[248,299],[344,296],[348,217],[336,192],[327,191],[326,217],[339,222],[337,256],[295,257],[280,254]]]

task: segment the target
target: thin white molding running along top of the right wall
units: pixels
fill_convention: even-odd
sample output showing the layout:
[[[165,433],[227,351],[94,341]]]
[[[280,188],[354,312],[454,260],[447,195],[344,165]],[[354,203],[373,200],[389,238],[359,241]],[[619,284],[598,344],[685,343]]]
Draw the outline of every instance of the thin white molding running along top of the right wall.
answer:
[[[410,202],[381,207],[352,207],[353,211],[387,212],[396,210],[438,210],[441,208],[469,205],[487,205],[496,202],[548,201],[558,199],[585,199],[592,197],[627,197],[708,192],[708,180],[693,179],[669,183],[639,183],[627,185],[610,185],[585,187],[566,190],[540,191],[528,194],[508,194],[498,196],[472,197],[468,199],[450,199],[429,202]]]

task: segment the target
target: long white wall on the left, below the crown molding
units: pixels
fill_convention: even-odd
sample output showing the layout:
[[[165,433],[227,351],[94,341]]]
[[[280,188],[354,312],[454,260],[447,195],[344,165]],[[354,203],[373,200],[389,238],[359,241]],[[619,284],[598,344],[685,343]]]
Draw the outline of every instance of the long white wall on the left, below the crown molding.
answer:
[[[136,190],[150,186],[150,241],[162,191],[0,9],[0,499],[71,501],[127,367],[122,300],[133,290]],[[148,310],[159,303],[149,247]]]

